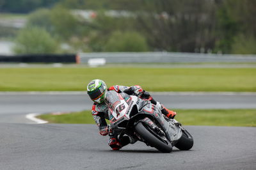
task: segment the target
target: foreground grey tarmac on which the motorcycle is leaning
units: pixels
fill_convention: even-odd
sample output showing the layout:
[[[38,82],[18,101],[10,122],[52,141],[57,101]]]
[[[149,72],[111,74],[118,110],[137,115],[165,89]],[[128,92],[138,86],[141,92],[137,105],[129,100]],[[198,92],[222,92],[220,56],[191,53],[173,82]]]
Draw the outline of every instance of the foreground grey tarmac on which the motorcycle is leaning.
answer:
[[[112,151],[95,125],[0,123],[0,169],[255,169],[256,128],[186,127],[189,151],[137,142]]]

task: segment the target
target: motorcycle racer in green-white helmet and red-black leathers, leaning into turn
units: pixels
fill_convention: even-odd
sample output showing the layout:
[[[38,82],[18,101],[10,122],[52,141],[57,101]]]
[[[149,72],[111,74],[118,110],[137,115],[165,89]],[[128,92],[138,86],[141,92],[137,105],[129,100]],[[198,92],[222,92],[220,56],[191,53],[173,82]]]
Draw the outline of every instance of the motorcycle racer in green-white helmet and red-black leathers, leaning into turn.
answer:
[[[140,86],[111,86],[107,88],[106,83],[102,80],[95,79],[91,81],[87,86],[87,93],[89,97],[93,100],[92,106],[92,115],[95,123],[99,127],[100,135],[108,135],[109,134],[109,146],[113,150],[119,150],[123,146],[134,143],[128,136],[118,137],[118,134],[113,130],[111,130],[110,126],[107,124],[106,120],[109,120],[108,111],[109,105],[108,101],[108,91],[116,91],[117,93],[127,93],[128,95],[136,95],[137,97],[143,100],[149,100],[152,104],[156,105],[156,107],[161,110],[162,114],[167,116],[168,118],[174,118],[176,112],[170,111],[166,109],[163,104],[160,104],[156,100],[154,100],[147,91],[144,91]]]

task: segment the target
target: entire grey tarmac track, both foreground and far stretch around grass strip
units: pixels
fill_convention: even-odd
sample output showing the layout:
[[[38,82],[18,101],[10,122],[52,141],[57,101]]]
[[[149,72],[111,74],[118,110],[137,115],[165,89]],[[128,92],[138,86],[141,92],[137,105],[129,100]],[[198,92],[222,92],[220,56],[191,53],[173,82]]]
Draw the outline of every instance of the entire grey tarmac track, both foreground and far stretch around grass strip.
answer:
[[[168,108],[256,108],[256,93],[152,95]],[[0,169],[256,169],[255,127],[185,126],[193,148],[159,153],[140,142],[112,151],[96,125],[36,124],[26,118],[91,107],[86,92],[0,93]]]

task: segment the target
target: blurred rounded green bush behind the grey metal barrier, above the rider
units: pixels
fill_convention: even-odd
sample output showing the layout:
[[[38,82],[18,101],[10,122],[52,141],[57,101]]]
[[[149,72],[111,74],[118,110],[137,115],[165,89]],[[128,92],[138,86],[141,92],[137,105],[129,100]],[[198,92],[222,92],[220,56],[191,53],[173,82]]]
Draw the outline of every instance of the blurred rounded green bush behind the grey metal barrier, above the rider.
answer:
[[[143,52],[148,50],[148,46],[145,38],[139,33],[115,31],[109,36],[104,50],[108,52]]]

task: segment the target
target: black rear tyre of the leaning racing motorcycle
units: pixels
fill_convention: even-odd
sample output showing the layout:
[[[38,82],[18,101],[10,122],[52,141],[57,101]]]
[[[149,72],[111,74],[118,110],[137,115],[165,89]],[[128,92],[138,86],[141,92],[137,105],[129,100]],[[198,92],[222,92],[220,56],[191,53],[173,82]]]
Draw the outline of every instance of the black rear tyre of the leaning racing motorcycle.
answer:
[[[194,144],[194,140],[191,134],[187,130],[182,131],[182,136],[180,137],[175,147],[179,150],[190,150]]]

